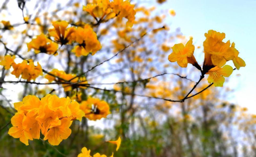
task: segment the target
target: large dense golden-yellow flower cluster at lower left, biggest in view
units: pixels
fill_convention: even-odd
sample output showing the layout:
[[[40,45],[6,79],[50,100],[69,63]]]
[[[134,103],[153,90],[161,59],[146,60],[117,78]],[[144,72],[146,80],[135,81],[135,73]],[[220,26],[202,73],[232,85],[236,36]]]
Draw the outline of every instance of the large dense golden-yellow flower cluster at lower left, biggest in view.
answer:
[[[36,96],[26,96],[14,107],[17,113],[11,119],[13,127],[8,134],[20,138],[25,145],[29,145],[28,140],[39,139],[40,131],[44,140],[48,140],[51,145],[58,145],[70,136],[72,120],[81,121],[84,116],[78,102],[51,94],[41,100]]]

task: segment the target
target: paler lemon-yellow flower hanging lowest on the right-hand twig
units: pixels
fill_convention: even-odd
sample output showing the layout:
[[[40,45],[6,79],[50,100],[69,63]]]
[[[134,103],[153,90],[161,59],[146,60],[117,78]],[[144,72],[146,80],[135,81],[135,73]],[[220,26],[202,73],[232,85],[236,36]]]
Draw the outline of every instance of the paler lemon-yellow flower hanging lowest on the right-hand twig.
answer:
[[[218,66],[210,69],[206,74],[209,74],[208,82],[214,84],[215,87],[223,87],[225,78],[229,77],[233,73],[233,68],[229,65],[225,65],[222,68]]]

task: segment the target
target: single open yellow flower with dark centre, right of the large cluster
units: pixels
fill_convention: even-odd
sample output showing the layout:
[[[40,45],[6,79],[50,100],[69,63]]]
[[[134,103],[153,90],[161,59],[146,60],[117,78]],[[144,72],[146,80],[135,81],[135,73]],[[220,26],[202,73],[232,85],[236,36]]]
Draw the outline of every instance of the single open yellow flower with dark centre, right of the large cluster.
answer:
[[[96,98],[88,98],[87,101],[81,102],[80,109],[90,120],[106,118],[110,114],[108,103]]]

